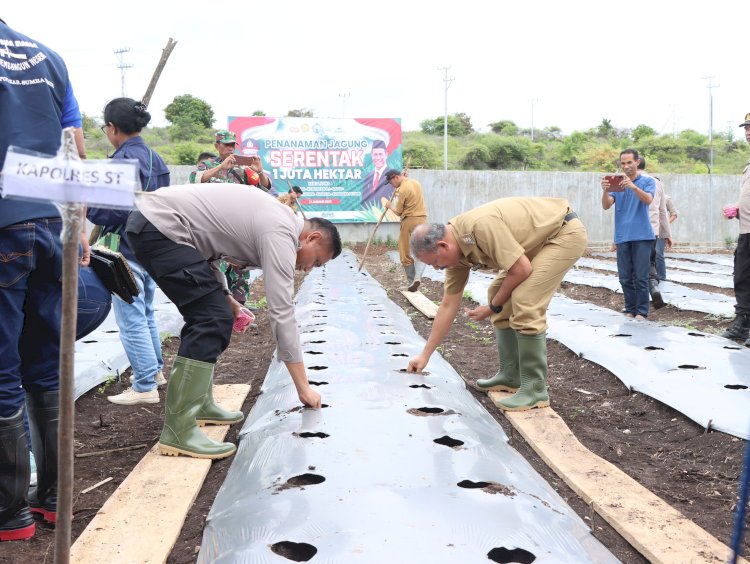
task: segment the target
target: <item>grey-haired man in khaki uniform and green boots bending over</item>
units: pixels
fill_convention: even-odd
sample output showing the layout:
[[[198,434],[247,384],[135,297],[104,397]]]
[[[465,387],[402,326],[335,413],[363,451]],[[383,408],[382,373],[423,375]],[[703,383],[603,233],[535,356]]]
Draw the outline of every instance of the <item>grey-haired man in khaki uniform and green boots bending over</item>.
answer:
[[[422,353],[409,360],[421,372],[448,334],[461,305],[472,266],[498,274],[487,292],[488,304],[466,314],[495,326],[500,369],[477,380],[485,391],[513,396],[504,410],[549,406],[547,394],[547,307],[565,273],[586,249],[586,228],[562,198],[503,198],[451,219],[447,225],[417,227],[411,236],[417,258],[447,269],[443,299]]]

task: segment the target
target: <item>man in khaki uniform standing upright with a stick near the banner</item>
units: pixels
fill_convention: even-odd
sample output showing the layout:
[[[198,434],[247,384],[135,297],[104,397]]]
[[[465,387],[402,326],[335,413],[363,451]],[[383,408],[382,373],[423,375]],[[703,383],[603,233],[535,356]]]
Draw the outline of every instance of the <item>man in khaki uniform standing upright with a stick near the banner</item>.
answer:
[[[419,288],[419,276],[409,249],[409,237],[418,225],[427,223],[427,206],[424,203],[422,185],[413,178],[407,178],[397,170],[385,173],[388,183],[396,189],[393,202],[385,202],[386,209],[401,217],[401,230],[398,235],[398,254],[404,267],[407,286],[410,292]]]

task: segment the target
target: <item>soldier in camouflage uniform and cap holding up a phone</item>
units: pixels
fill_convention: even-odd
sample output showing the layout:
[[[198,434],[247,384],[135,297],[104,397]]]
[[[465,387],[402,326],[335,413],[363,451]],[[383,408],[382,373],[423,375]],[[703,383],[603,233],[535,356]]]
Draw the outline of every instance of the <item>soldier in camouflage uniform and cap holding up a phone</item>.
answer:
[[[217,131],[214,147],[219,156],[200,161],[196,170],[190,173],[189,182],[194,184],[201,182],[247,184],[256,186],[264,192],[270,192],[271,179],[263,171],[260,158],[252,157],[253,162],[250,166],[237,164],[234,154],[237,147],[237,137],[234,132],[226,129]],[[225,261],[221,261],[221,270],[226,274],[227,283],[234,299],[244,304],[250,296],[249,273],[237,271]]]

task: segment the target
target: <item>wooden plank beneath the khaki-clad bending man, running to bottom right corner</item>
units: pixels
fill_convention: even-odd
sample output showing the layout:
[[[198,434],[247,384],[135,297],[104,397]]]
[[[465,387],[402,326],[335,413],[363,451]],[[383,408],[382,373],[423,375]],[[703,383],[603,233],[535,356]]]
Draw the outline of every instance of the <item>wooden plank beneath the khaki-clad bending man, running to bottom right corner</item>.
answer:
[[[489,395],[497,403],[510,394]],[[651,562],[692,564],[729,559],[727,545],[589,451],[552,408],[503,414],[542,460]],[[738,562],[747,564],[744,558]]]

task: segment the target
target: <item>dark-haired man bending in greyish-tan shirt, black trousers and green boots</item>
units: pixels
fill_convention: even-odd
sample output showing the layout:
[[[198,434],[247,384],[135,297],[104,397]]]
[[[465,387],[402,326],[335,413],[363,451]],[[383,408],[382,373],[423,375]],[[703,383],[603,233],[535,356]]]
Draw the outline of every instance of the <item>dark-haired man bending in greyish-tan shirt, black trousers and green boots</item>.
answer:
[[[300,401],[320,407],[320,394],[310,386],[302,360],[294,271],[308,272],[341,253],[336,226],[322,218],[303,220],[260,190],[237,190],[225,183],[168,186],[139,199],[137,206],[125,236],[138,262],[185,320],[167,388],[159,451],[224,458],[236,450],[198,428],[244,418],[241,411],[218,406],[212,395],[214,365],[242,313],[219,269],[222,259],[240,269],[263,270],[276,356],[286,364]]]

